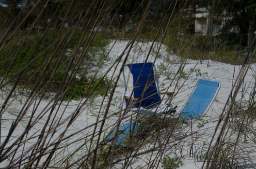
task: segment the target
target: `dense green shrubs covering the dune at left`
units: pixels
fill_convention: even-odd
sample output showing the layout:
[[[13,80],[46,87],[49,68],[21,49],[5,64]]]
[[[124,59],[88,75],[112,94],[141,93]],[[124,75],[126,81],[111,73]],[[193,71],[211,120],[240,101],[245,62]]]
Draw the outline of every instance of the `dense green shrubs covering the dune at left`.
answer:
[[[70,34],[65,35],[64,30],[51,30],[46,34],[39,32],[29,35],[27,39],[26,33],[22,31],[1,51],[0,76],[11,79],[11,83],[18,79],[19,85],[27,88],[39,83],[41,91],[65,91],[66,99],[79,99],[90,95],[92,91],[104,95],[106,86],[111,88],[112,84],[106,77],[82,75],[81,66],[89,64],[91,59],[82,54],[83,46],[90,43],[93,50],[103,48],[110,42],[102,39],[100,33],[96,33],[90,40],[88,33],[78,30],[69,41]],[[84,39],[82,37],[88,37],[88,40],[80,42]]]

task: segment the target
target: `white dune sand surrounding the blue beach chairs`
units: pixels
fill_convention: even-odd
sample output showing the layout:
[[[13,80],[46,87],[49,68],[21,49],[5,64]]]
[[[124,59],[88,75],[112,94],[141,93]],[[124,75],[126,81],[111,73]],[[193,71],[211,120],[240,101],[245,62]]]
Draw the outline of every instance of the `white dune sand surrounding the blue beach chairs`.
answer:
[[[112,41],[108,47],[106,47],[106,51],[110,52],[107,61],[104,62],[104,67],[99,71],[98,75],[103,75],[105,72],[110,70],[107,74],[109,78],[111,78],[112,74],[114,74],[113,81],[116,80],[117,75],[120,72],[121,65],[123,64],[125,57],[128,55],[126,63],[139,63],[144,62],[147,60],[147,62],[155,62],[157,74],[160,76],[159,78],[159,84],[160,89],[170,88],[169,91],[172,91],[175,89],[176,96],[173,99],[173,105],[177,105],[177,113],[182,109],[182,106],[185,104],[186,99],[188,99],[193,85],[197,81],[198,78],[213,80],[213,81],[219,81],[221,83],[221,88],[219,90],[219,93],[216,97],[216,99],[213,101],[213,104],[211,105],[210,109],[206,113],[206,117],[204,117],[205,120],[207,120],[206,124],[202,128],[198,128],[197,123],[195,122],[193,126],[193,130],[198,132],[198,135],[204,134],[207,132],[207,136],[204,136],[202,138],[202,141],[197,141],[194,145],[194,150],[196,150],[197,146],[202,146],[200,143],[202,143],[205,140],[210,140],[211,136],[214,133],[215,127],[217,125],[218,117],[222,113],[224,109],[224,105],[227,101],[227,98],[231,92],[231,88],[233,87],[234,80],[237,79],[238,72],[241,69],[241,66],[234,66],[230,64],[220,63],[220,62],[214,62],[209,61],[208,66],[208,60],[202,60],[199,62],[198,60],[191,60],[188,59],[184,68],[185,75],[188,75],[190,70],[197,70],[197,72],[193,72],[188,80],[185,81],[185,79],[180,79],[177,81],[176,79],[173,79],[174,75],[176,74],[180,64],[182,64],[182,61],[180,58],[178,58],[175,55],[168,54],[166,51],[166,47],[164,45],[161,45],[159,43],[156,43],[153,45],[153,50],[148,55],[150,46],[152,45],[151,42],[148,43],[141,43],[136,42],[133,46],[133,48],[130,50],[130,53],[128,54],[128,49],[125,51],[125,55],[122,56],[122,59],[120,60],[120,63],[115,63],[118,61],[118,58],[120,55],[124,52],[126,45],[128,42],[114,42]],[[160,48],[158,48],[160,46]],[[159,49],[159,52],[158,52]],[[157,55],[158,54],[158,55]],[[146,59],[148,55],[148,59]],[[115,64],[114,64],[115,63]],[[115,70],[116,68],[116,70]],[[249,69],[247,75],[244,79],[244,89],[248,89],[248,91],[243,91],[244,96],[242,99],[248,100],[249,99],[249,87],[253,86],[255,81],[255,70],[256,65],[251,65],[251,69]],[[126,73],[126,77],[128,77],[128,73]],[[173,81],[173,83],[170,85],[170,83]],[[184,85],[183,82],[185,81]],[[114,114],[119,110],[119,107],[121,105],[121,96],[124,91],[124,81],[123,77],[120,77],[120,80],[118,81],[118,87],[116,88],[116,91],[114,93],[110,111],[108,115]],[[175,85],[177,84],[177,87],[175,88]],[[242,89],[241,89],[242,91]],[[5,99],[5,93],[2,92],[2,98],[0,99],[0,105],[3,104]],[[237,99],[240,99],[241,93],[239,93],[239,97]],[[1,127],[1,143],[6,138],[9,128],[11,126],[11,123],[16,118],[17,113],[22,109],[22,107],[25,105],[25,100],[27,98],[24,97],[17,97],[12,102],[9,101],[9,105],[7,110],[2,114],[2,127]],[[37,100],[39,101],[39,100]],[[72,125],[68,128],[65,136],[68,136],[70,134],[75,134],[71,138],[67,139],[66,142],[62,143],[62,145],[67,145],[71,143],[70,146],[66,147],[64,150],[64,153],[70,153],[72,150],[75,150],[79,147],[82,143],[86,140],[86,137],[88,135],[88,138],[90,138],[89,134],[92,133],[94,126],[90,127],[90,125],[93,125],[96,122],[97,115],[99,114],[99,118],[102,119],[105,109],[99,109],[99,106],[101,102],[103,101],[103,105],[106,105],[108,102],[108,99],[103,100],[102,97],[97,97],[95,100],[86,101],[85,100],[78,100],[78,101],[72,101],[72,102],[64,102],[62,105],[58,105],[56,107],[53,107],[52,103],[49,102],[49,100],[42,100],[39,104],[39,107],[36,109],[34,114],[34,119],[39,118],[37,123],[34,125],[34,127],[29,132],[27,138],[29,138],[32,135],[38,135],[39,132],[41,132],[41,129],[45,123],[45,121],[48,118],[48,115],[50,114],[50,110],[52,109],[53,114],[56,114],[55,119],[50,116],[50,121],[53,121],[53,126],[58,126],[56,128],[55,133],[50,132],[50,135],[53,134],[53,138],[57,138],[62,131],[64,131],[64,128],[66,127],[67,122],[69,121],[72,114],[76,112],[77,108],[81,108],[78,112],[78,117],[75,119],[75,121],[72,123]],[[26,111],[26,115],[21,120],[21,122],[18,124],[18,127],[16,130],[12,133],[11,140],[8,142],[8,145],[11,145],[12,142],[16,141],[16,137],[18,137],[25,129],[26,124],[28,123],[28,119],[31,116],[33,112],[33,106],[36,104],[36,101],[32,101],[32,104],[28,106],[28,110]],[[49,104],[49,105],[48,105]],[[105,108],[105,107],[104,107]],[[63,117],[61,117],[61,114],[63,114]],[[27,116],[27,118],[26,118]],[[109,118],[105,124],[105,126],[112,126],[112,124],[115,124],[117,119],[119,117],[119,114],[113,115],[111,118]],[[56,125],[56,122],[60,120],[60,123],[62,125]],[[100,125],[99,125],[100,126]],[[80,132],[80,130],[82,130]],[[48,131],[48,129],[46,130]],[[106,134],[109,131],[108,128],[106,128]],[[49,136],[48,136],[49,137]],[[216,137],[216,136],[215,136]],[[88,140],[87,138],[87,140]],[[72,143],[72,141],[77,141],[81,139],[80,143],[75,142]],[[95,140],[97,137],[95,137]],[[33,145],[33,142],[36,139],[30,140],[29,144],[26,144],[26,146]],[[49,141],[49,139],[47,139]],[[50,142],[55,142],[54,139],[51,139]],[[188,147],[189,147],[189,142]],[[147,149],[149,147],[144,148]],[[21,149],[20,149],[21,151]],[[178,150],[168,150],[166,151],[166,154],[169,152],[169,156],[173,157],[174,152],[176,151],[177,154],[179,154]],[[86,154],[86,150],[83,148],[81,149],[77,154]],[[202,166],[202,161],[196,161],[194,160],[193,156],[190,157],[189,150],[183,150],[183,158],[182,162],[184,165],[181,167],[181,169],[197,169]],[[16,156],[17,158],[18,156]],[[144,166],[147,163],[147,160],[149,158],[149,155],[142,155],[140,159],[137,159],[136,162],[133,164],[133,167],[137,166]],[[61,159],[61,157],[60,157]],[[8,162],[5,161],[4,163],[0,163],[0,167],[3,167]],[[159,166],[161,168],[161,166]]]

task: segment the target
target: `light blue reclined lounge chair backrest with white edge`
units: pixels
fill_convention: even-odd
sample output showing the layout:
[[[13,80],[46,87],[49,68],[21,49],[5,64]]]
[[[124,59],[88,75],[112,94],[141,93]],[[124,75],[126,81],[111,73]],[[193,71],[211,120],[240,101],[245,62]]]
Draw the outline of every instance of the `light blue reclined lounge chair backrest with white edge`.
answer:
[[[180,119],[189,120],[205,113],[217,95],[220,85],[216,81],[199,79],[188,102],[180,113]]]

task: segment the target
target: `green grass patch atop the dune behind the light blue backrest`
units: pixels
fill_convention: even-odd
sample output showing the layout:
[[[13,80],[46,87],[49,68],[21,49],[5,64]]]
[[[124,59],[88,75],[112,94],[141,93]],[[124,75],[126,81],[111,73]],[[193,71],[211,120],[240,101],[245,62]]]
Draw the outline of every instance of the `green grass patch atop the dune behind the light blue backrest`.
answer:
[[[240,44],[238,35],[209,38],[208,36],[183,35],[177,39],[165,39],[170,52],[178,56],[195,60],[213,60],[229,64],[241,65],[248,52]],[[216,42],[214,42],[216,41]]]

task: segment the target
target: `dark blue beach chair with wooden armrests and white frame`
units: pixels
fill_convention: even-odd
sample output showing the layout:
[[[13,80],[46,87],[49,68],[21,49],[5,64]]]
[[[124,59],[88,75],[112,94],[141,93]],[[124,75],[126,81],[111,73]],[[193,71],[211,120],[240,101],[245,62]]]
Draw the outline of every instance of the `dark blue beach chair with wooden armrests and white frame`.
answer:
[[[171,98],[174,92],[159,92],[154,75],[154,64],[135,63],[127,65],[133,77],[133,97],[125,96],[125,105],[131,105],[128,101],[134,101],[131,111],[147,113],[147,115],[159,113],[174,113]],[[166,104],[161,104],[160,94],[167,95]]]

